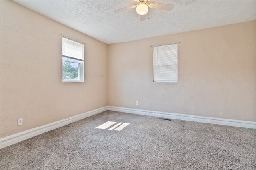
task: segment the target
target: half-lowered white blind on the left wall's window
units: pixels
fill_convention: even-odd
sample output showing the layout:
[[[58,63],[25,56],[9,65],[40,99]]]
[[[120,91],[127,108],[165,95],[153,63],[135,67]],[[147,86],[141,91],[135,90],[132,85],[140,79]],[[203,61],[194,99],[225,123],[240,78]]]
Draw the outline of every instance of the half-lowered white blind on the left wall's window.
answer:
[[[62,56],[84,61],[84,44],[62,37]]]

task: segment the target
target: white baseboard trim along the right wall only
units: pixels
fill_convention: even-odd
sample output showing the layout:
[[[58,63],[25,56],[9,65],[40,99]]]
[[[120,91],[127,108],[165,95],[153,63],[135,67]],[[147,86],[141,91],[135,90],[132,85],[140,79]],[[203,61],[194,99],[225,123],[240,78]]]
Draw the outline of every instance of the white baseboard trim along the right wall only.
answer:
[[[134,113],[138,115],[162,117],[162,118],[168,118],[168,119],[180,119],[184,121],[213,123],[218,125],[227,125],[227,126],[234,126],[234,127],[256,129],[256,122],[251,122],[251,121],[240,121],[235,119],[223,119],[223,118],[216,118],[216,117],[185,115],[185,114],[179,114],[179,113],[168,113],[168,112],[160,112],[160,111],[147,111],[147,110],[141,110],[141,109],[131,109],[131,108],[114,107],[114,106],[108,106],[108,110]]]

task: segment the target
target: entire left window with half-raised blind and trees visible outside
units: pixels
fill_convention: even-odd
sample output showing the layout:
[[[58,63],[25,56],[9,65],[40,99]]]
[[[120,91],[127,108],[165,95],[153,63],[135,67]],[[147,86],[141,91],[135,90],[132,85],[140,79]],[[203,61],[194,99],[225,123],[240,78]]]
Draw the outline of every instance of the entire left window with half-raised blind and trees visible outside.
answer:
[[[84,82],[84,44],[62,37],[62,82]]]

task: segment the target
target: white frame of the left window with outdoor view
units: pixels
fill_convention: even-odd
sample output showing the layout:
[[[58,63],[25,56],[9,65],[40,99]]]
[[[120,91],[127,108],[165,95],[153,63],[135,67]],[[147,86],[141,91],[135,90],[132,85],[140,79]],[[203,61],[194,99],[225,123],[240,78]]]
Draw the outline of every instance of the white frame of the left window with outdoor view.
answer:
[[[81,51],[82,52],[82,59],[63,55],[63,52],[62,52],[62,57],[61,57],[61,60],[62,60],[62,64],[61,64],[61,82],[62,83],[82,83],[82,82],[84,82],[84,44],[80,43],[80,42],[77,42],[77,41],[74,41],[74,40],[71,40],[71,39],[66,38],[66,37],[62,37],[62,51],[63,51],[63,48],[65,48],[64,47],[65,42],[63,42],[65,39],[82,45],[82,51]],[[78,66],[79,67],[78,68],[78,79],[63,79],[63,65],[64,65],[64,62],[77,63],[79,65]]]

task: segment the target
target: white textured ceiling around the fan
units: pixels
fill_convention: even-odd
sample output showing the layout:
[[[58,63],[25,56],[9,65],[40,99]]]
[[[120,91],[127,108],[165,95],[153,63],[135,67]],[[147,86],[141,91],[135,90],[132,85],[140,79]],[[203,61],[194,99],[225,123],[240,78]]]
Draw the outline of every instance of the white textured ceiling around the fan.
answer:
[[[113,12],[136,4],[134,0],[15,2],[107,44],[256,20],[255,0],[151,0],[173,4],[174,8],[171,11],[150,8],[149,19],[144,21],[140,21],[135,8]]]

